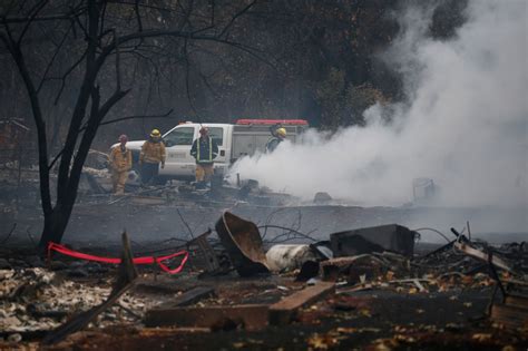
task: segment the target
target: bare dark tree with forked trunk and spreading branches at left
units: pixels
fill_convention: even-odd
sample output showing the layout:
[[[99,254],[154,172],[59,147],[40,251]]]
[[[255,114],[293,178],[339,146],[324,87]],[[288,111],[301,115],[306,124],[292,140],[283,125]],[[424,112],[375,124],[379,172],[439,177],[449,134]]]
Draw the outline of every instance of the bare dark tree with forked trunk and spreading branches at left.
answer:
[[[256,55],[231,31],[254,2],[216,7],[215,1],[4,1],[0,4],[0,41],[23,82],[39,149],[43,228],[40,246],[60,242],[72,212],[80,175],[99,127],[134,88],[125,62],[176,56],[189,67],[197,42],[222,45]],[[49,33],[53,37],[50,39]],[[39,52],[36,52],[39,51]],[[108,79],[110,77],[111,79]],[[45,105],[65,90],[75,91],[62,148],[49,155],[51,133]],[[53,105],[49,108],[53,108]],[[51,172],[57,164],[57,193]]]

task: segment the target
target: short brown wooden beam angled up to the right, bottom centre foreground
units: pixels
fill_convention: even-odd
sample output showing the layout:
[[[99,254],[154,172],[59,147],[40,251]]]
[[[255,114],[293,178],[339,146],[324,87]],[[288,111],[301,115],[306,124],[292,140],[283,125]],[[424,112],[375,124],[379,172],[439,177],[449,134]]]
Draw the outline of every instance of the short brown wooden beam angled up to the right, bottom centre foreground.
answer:
[[[335,292],[335,284],[329,282],[319,282],[313,286],[307,286],[290,296],[286,296],[270,306],[270,325],[284,325],[295,316],[297,310],[302,306]]]

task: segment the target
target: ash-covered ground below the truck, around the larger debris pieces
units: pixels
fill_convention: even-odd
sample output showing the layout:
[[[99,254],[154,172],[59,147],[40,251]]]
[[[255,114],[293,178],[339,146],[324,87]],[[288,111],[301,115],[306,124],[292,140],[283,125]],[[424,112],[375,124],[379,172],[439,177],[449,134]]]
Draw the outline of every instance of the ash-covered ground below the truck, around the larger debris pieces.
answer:
[[[31,189],[26,192],[31,195]],[[213,195],[186,193],[185,187],[123,198],[88,192],[79,198],[63,243],[84,253],[118,256],[120,234],[126,230],[135,255],[164,255],[185,248],[194,236],[213,228],[209,243],[218,257],[225,259],[228,254],[214,231],[225,211],[260,226],[264,250],[275,244],[325,241],[335,232],[393,223],[420,230],[421,235],[412,256],[372,253],[359,255],[353,262],[336,262],[339,273],[331,280],[332,293],[302,305],[295,318],[282,326],[253,328],[245,316],[229,318],[234,313],[231,309],[272,305],[323,284],[327,281],[323,269],[315,282],[295,281],[299,267],[250,277],[241,277],[233,269],[211,275],[199,250],[194,247],[178,274],[167,274],[156,265],[137,266],[135,286],[118,302],[81,331],[52,345],[42,345],[50,331],[104,302],[118,272],[114,264],[57,253],[47,262],[33,245],[41,217],[32,196],[20,198],[18,204],[4,197],[3,208],[11,209],[2,213],[6,235],[0,252],[1,348],[466,350],[518,349],[528,344],[526,324],[507,328],[503,321],[490,319],[489,305],[492,301],[499,303],[500,298],[491,300],[497,283],[485,261],[453,247],[427,255],[447,243],[431,230],[453,240],[450,227],[468,234],[469,222],[472,245],[486,250],[488,244],[480,241],[487,240],[508,262],[516,263],[515,273],[498,269],[502,284],[520,282],[519,286],[524,286],[528,251],[521,242],[526,233],[511,230],[516,225],[522,228],[524,208],[281,205],[293,199],[284,194],[262,193],[245,202],[209,196]],[[267,204],[263,205],[263,201]],[[510,230],[501,231],[498,223],[510,223]],[[172,266],[179,263],[178,259],[169,262]],[[170,325],[148,325],[149,310],[177,301],[196,287],[212,289],[214,294],[186,308],[226,309],[226,316],[209,324],[176,321]]]

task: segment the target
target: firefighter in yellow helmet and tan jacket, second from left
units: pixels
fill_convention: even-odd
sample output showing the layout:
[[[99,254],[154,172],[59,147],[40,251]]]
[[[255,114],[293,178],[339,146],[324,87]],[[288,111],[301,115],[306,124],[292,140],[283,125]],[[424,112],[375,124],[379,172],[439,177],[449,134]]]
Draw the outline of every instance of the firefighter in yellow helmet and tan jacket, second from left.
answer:
[[[159,165],[165,168],[165,144],[158,129],[153,129],[148,140],[143,144],[139,165],[141,166],[141,186],[157,177]]]

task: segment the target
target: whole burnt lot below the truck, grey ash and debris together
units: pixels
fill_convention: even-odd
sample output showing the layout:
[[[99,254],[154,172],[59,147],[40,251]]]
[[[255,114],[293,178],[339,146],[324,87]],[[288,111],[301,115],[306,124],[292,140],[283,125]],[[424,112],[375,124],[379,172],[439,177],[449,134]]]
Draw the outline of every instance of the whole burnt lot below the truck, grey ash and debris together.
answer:
[[[457,211],[270,205],[284,194],[241,202],[236,188],[213,195],[179,187],[128,198],[88,191],[69,240],[45,254],[36,247],[31,197],[18,208],[3,198],[11,209],[2,223],[17,225],[1,238],[2,348],[528,344],[522,233],[478,233]],[[460,227],[418,227],[420,217]]]

